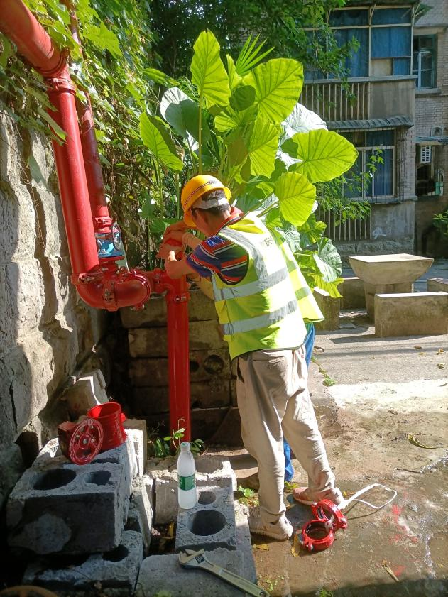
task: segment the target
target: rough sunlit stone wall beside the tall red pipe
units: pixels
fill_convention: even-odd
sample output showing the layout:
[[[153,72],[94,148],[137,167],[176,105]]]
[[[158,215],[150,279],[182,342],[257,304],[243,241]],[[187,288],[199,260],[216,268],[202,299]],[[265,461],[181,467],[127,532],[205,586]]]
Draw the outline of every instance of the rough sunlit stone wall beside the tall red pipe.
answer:
[[[30,156],[45,182],[31,179]],[[55,436],[71,376],[106,363],[99,341],[107,318],[70,283],[50,143],[1,119],[0,451],[18,442],[32,457]]]

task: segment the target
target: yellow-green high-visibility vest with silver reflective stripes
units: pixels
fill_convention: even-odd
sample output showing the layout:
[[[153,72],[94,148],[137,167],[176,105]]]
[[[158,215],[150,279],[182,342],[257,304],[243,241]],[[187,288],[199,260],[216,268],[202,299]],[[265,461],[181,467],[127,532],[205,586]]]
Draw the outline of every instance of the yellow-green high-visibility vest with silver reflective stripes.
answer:
[[[212,276],[214,302],[230,357],[250,351],[294,349],[303,344],[303,319],[324,319],[287,243],[246,214],[219,236],[248,254],[248,269],[236,284]]]

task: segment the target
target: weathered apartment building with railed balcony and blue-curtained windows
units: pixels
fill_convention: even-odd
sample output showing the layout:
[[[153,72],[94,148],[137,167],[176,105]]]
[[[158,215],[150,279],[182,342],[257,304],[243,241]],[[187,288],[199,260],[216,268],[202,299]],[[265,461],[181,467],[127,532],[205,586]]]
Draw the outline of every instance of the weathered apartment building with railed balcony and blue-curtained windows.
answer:
[[[348,84],[318,70],[305,74],[302,103],[359,150],[347,179],[381,156],[371,175],[344,190],[371,204],[370,217],[340,224],[340,214],[320,214],[342,256],[427,250],[422,238],[433,233],[422,231],[420,217],[427,214],[431,226],[432,214],[446,206],[448,2],[426,4],[433,6],[427,13],[412,0],[351,2],[332,11],[337,41],[355,38],[359,46],[346,58]]]

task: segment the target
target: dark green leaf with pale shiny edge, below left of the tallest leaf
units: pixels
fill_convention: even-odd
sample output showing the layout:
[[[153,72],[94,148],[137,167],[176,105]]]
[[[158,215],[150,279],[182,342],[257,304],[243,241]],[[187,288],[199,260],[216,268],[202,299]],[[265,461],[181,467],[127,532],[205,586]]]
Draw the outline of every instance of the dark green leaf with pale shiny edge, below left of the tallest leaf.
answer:
[[[160,114],[184,138],[199,136],[199,104],[187,96],[182,89],[171,87],[160,101]],[[202,142],[207,143],[210,130],[206,119],[202,119]],[[191,140],[190,140],[191,141]],[[190,143],[191,144],[191,143]]]

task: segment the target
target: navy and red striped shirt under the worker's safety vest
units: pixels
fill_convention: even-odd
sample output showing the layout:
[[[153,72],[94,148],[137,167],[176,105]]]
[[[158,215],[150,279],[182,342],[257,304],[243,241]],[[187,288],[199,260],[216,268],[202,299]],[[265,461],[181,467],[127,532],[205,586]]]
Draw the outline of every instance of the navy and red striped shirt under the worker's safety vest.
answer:
[[[241,215],[229,217],[224,226],[234,224]],[[241,246],[219,236],[218,231],[187,256],[187,263],[202,278],[210,278],[215,273],[225,284],[237,284],[247,273],[248,255]]]

